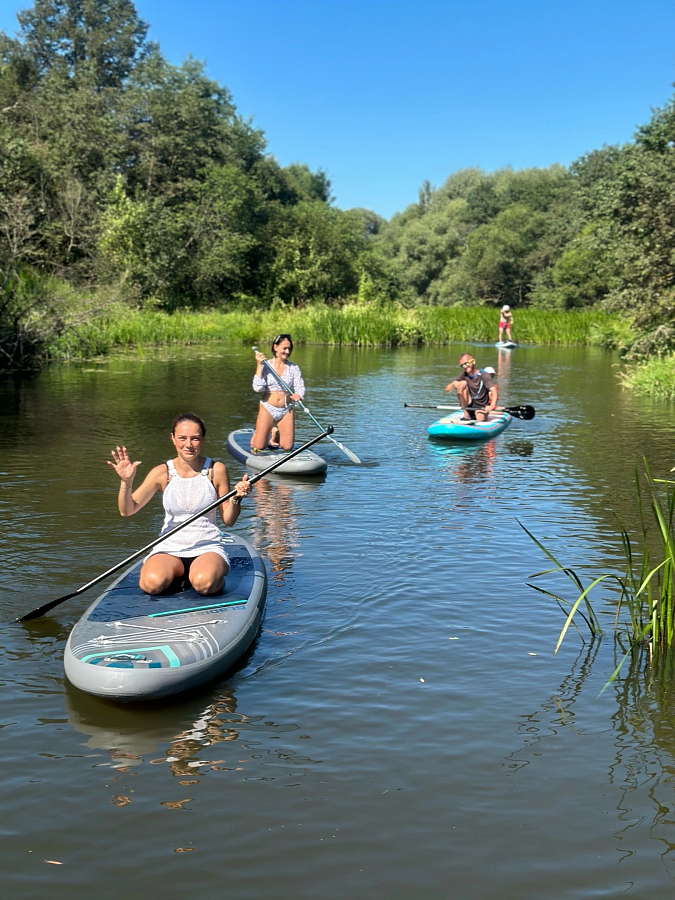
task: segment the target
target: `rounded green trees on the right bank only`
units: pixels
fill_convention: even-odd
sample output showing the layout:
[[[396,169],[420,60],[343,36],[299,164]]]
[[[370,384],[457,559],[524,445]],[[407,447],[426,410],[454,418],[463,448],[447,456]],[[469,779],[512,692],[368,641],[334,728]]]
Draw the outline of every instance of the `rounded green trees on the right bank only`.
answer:
[[[633,356],[675,349],[675,104],[566,170],[451,175],[374,238],[409,305],[596,307]]]

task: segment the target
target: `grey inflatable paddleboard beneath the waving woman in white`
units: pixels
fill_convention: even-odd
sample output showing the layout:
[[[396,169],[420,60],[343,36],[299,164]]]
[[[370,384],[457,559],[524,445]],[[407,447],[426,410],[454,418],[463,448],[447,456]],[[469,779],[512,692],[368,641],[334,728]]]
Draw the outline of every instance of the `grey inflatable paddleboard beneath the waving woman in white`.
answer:
[[[267,573],[243,538],[224,538],[225,587],[204,596],[191,586],[157,596],[127,569],[84,613],[64,653],[68,679],[112,700],[153,700],[224,674],[253,641],[265,606]]]

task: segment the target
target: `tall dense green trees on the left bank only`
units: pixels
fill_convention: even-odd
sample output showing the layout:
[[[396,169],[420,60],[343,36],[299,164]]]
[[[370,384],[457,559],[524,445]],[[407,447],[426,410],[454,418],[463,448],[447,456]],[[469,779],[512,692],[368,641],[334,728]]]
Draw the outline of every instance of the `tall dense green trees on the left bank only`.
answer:
[[[18,18],[16,39],[0,34],[7,366],[119,297],[170,310],[357,293],[374,268],[362,217],[331,205],[323,172],[280,167],[201,63],[170,65],[131,0],[35,0]]]

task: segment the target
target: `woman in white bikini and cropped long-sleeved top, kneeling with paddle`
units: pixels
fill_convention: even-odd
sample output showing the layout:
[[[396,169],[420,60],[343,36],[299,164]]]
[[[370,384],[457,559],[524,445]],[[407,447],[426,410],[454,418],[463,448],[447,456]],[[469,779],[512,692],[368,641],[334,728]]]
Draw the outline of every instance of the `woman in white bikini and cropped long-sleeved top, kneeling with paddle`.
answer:
[[[275,337],[272,342],[271,360],[266,360],[264,353],[256,351],[258,366],[253,376],[253,390],[262,394],[262,399],[258,407],[255,433],[251,438],[251,450],[254,453],[267,450],[270,436],[272,449],[293,449],[295,420],[293,407],[289,406],[288,401],[302,400],[305,396],[305,382],[302,380],[299,367],[288,361],[292,352],[293,341],[290,334],[278,334]],[[288,385],[292,393],[286,391],[281,381],[274,377],[274,372]]]

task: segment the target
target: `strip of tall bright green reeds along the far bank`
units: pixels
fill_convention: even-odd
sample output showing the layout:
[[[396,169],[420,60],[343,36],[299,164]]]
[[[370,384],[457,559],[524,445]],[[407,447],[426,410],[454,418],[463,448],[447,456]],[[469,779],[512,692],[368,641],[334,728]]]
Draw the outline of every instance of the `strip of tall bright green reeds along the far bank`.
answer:
[[[124,311],[73,329],[49,348],[53,359],[102,356],[118,349],[207,341],[268,343],[289,332],[296,343],[357,347],[496,340],[499,314],[484,307],[311,306],[265,312]],[[521,343],[616,346],[620,325],[597,311],[517,310]]]

